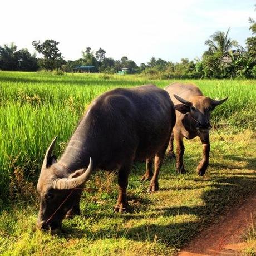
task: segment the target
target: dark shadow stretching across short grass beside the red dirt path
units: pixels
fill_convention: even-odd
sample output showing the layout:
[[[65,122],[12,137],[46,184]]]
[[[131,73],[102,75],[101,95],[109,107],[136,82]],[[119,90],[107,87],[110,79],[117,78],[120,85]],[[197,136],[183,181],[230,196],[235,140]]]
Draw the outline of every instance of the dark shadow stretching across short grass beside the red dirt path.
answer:
[[[211,173],[213,174],[213,173]],[[96,232],[91,232],[90,229],[80,230],[77,228],[64,229],[61,236],[66,238],[83,237],[86,235],[88,239],[97,240],[102,238],[122,238],[131,239],[142,242],[154,242],[155,240],[160,243],[165,243],[174,247],[181,247],[189,242],[197,233],[202,229],[209,226],[219,219],[230,207],[241,203],[246,199],[250,192],[256,189],[256,175],[238,176],[247,173],[235,173],[231,177],[214,175],[211,179],[214,183],[204,190],[201,195],[204,204],[199,206],[179,206],[179,207],[156,207],[149,209],[150,201],[141,201],[142,204],[146,203],[147,206],[143,212],[138,214],[98,214],[99,218],[121,218],[123,220],[141,220],[139,224],[134,224],[132,227],[118,228],[115,224],[111,228],[102,228]],[[193,178],[188,177],[187,180]],[[193,179],[194,181],[197,181]],[[198,182],[201,180],[198,179]],[[209,187],[208,185],[206,185]],[[189,187],[185,189],[190,189]],[[191,188],[193,189],[193,188]],[[136,198],[137,200],[138,198]],[[149,211],[151,212],[149,213]],[[182,223],[174,222],[172,220],[175,216],[194,215],[195,221],[191,219]],[[158,221],[154,218],[164,218],[164,221]],[[167,217],[167,218],[166,218]],[[186,219],[186,218],[184,218]],[[155,223],[152,223],[154,222]],[[172,223],[173,222],[173,223]],[[159,224],[157,224],[159,223]],[[164,224],[167,223],[167,224]]]

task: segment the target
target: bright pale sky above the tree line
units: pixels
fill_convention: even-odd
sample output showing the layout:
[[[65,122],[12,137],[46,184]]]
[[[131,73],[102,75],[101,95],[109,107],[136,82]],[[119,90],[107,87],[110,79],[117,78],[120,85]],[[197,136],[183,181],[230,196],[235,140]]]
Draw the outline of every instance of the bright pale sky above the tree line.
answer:
[[[150,57],[177,62],[201,57],[204,41],[227,31],[245,46],[255,0],[14,0],[1,2],[0,45],[14,42],[34,52],[31,42],[53,39],[66,60],[87,46],[107,57],[127,56],[138,65]]]

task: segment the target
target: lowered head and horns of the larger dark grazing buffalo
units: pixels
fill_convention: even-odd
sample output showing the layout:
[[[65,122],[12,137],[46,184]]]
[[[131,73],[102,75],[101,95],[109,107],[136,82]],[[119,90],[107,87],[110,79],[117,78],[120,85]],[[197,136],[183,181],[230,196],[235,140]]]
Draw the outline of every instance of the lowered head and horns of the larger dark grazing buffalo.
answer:
[[[84,184],[92,172],[91,159],[87,170],[81,169],[74,173],[58,170],[55,167],[57,163],[55,156],[52,156],[56,139],[57,137],[46,151],[37,183],[37,191],[40,194],[37,227],[40,229],[61,227],[67,211],[72,208],[77,196],[80,195],[76,188]]]

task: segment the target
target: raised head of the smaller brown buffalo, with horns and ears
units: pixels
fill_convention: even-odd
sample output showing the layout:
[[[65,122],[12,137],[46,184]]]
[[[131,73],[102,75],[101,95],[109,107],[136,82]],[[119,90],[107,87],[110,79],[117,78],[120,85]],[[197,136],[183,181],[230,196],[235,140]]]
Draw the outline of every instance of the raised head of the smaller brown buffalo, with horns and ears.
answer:
[[[183,114],[189,112],[191,119],[196,123],[196,129],[199,131],[207,131],[211,129],[210,112],[213,111],[216,106],[228,99],[227,97],[223,100],[213,100],[205,96],[196,96],[193,98],[193,101],[190,102],[175,94],[174,97],[182,103],[175,105],[174,108]]]

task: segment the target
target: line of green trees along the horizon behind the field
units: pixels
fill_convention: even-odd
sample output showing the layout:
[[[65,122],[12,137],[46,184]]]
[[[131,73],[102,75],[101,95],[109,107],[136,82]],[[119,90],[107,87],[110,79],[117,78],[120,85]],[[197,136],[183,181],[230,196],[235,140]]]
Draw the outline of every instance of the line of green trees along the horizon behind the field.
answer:
[[[37,71],[61,70],[72,72],[77,66],[93,66],[93,72],[116,73],[129,68],[131,73],[142,73],[160,78],[256,78],[256,22],[249,18],[252,36],[246,40],[243,48],[229,37],[227,32],[216,31],[204,42],[208,50],[200,58],[189,61],[182,58],[173,63],[161,58],[151,57],[149,62],[140,66],[126,56],[120,60],[106,57],[106,51],[99,48],[93,52],[91,47],[82,51],[81,58],[65,61],[58,49],[58,42],[45,40],[33,41],[35,50],[43,57],[37,58],[24,48],[17,51],[14,43],[0,46],[0,70]],[[235,47],[235,50],[231,50]]]

